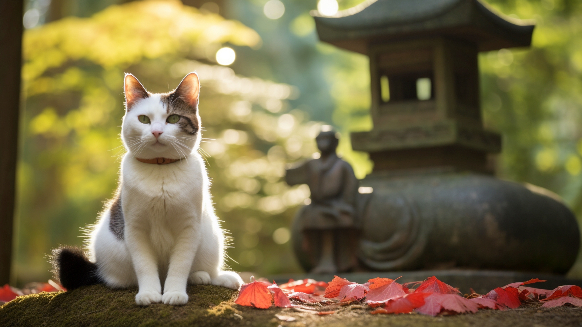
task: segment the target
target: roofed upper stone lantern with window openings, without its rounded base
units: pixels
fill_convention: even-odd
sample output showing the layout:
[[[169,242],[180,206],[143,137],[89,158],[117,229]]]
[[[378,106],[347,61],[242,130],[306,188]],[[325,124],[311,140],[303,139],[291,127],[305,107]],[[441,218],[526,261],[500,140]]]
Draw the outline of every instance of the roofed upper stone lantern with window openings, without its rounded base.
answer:
[[[491,172],[501,137],[482,127],[477,54],[530,45],[533,25],[475,0],[376,1],[315,22],[321,41],[370,57],[374,129],[352,146],[375,170]]]

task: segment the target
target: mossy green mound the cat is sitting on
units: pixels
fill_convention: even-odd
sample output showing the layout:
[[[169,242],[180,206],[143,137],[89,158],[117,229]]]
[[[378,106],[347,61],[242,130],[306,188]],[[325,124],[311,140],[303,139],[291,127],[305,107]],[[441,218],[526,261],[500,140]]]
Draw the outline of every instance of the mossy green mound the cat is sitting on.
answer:
[[[88,286],[71,292],[22,296],[0,308],[1,326],[219,326],[237,319],[233,311],[211,310],[232,305],[236,291],[217,286],[189,286],[188,304],[135,303],[137,289],[112,290]],[[211,312],[212,311],[212,312]]]

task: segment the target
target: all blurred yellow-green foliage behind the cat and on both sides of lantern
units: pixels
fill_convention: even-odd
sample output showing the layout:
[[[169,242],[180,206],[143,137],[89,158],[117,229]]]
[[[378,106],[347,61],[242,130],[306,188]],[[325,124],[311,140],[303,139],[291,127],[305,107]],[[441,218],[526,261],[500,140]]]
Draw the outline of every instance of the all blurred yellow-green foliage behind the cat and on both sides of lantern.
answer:
[[[230,266],[260,275],[299,271],[287,228],[308,190],[286,186],[283,168],[315,152],[321,123],[312,120],[343,136],[371,128],[369,66],[363,55],[318,42],[308,15],[315,0],[283,0],[276,20],[264,16],[266,2],[225,0],[221,14],[234,20],[176,1],[130,2],[26,31],[19,283],[49,278],[42,253],[81,244],[79,228],[95,221],[115,190],[123,72],[164,92],[197,70],[212,194],[234,237],[228,254],[238,263]],[[338,2],[345,9],[361,0]],[[503,135],[498,176],[555,191],[582,216],[582,3],[487,2],[537,23],[531,48],[480,55],[485,125]],[[232,68],[215,64],[223,46],[236,51]],[[367,154],[352,151],[349,137],[339,152],[358,177],[370,172]],[[571,275],[582,276],[582,265]]]

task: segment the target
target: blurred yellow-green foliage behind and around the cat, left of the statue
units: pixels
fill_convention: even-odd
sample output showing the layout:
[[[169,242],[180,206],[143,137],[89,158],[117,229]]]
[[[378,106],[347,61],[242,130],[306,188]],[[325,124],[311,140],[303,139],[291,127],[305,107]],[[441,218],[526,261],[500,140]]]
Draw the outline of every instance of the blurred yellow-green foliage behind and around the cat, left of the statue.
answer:
[[[289,107],[296,88],[209,64],[208,56],[226,42],[256,47],[261,38],[238,22],[177,1],[110,6],[90,18],[69,17],[26,31],[19,283],[47,279],[42,253],[58,244],[81,244],[79,228],[95,222],[115,190],[124,152],[123,72],[154,92],[198,72],[206,129],[201,151],[212,156],[212,194],[234,237],[228,254],[239,262],[229,264],[237,271],[297,271],[288,249],[293,212],[287,208],[303,202],[309,191],[290,188],[281,177],[286,162],[315,152],[320,124],[306,122]]]

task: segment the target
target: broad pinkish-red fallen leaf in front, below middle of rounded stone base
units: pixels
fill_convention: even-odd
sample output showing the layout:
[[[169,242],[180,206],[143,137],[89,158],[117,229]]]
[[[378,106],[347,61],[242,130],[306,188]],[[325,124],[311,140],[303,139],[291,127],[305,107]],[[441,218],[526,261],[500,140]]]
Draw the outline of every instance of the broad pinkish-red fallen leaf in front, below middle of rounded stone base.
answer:
[[[477,303],[456,294],[431,293],[424,299],[424,302],[425,304],[416,308],[416,311],[433,317],[443,310],[461,314],[463,312],[474,313],[479,309]]]

